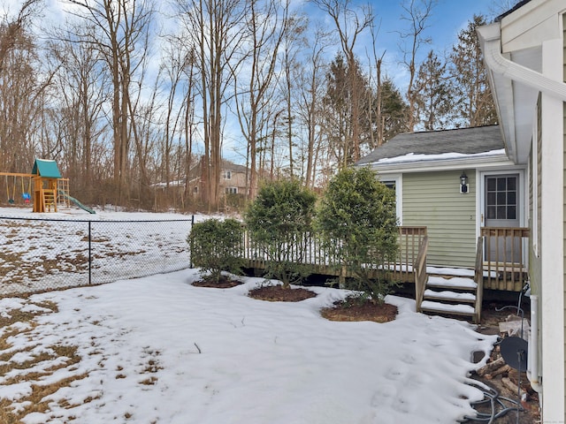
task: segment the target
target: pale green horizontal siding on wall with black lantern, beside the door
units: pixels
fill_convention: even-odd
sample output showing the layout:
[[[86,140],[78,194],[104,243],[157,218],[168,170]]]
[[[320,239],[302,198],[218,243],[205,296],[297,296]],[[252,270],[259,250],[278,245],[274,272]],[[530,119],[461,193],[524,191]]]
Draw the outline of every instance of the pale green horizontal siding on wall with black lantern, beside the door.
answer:
[[[465,170],[469,193],[460,193],[462,170],[403,175],[403,225],[428,228],[430,265],[473,268],[476,260],[476,172]]]

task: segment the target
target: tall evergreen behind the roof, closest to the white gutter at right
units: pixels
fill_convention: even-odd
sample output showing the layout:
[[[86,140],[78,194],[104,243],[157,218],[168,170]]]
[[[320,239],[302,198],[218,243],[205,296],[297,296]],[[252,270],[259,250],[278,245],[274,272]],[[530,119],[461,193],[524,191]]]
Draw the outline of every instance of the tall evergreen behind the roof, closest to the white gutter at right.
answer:
[[[468,27],[458,34],[458,43],[450,55],[455,126],[497,124],[495,104],[476,33],[476,28],[482,25],[486,25],[486,18],[474,15]]]

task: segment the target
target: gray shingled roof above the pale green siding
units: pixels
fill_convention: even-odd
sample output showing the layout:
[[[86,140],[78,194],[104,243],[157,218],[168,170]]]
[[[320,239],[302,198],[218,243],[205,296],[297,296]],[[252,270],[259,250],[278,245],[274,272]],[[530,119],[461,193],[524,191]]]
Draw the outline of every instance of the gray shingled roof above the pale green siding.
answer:
[[[454,130],[402,133],[360,159],[356,165],[375,163],[380,159],[408,155],[473,155],[504,148],[499,125],[458,128]]]

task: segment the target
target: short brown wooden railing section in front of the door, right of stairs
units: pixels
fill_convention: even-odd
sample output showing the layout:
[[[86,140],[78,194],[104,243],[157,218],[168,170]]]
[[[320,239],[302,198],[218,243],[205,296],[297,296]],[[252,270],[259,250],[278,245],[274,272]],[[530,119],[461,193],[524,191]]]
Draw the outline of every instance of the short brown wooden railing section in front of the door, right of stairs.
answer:
[[[527,243],[530,230],[523,227],[482,227],[478,252],[484,255],[484,286],[520,292],[527,278]],[[483,247],[483,248],[482,248]]]

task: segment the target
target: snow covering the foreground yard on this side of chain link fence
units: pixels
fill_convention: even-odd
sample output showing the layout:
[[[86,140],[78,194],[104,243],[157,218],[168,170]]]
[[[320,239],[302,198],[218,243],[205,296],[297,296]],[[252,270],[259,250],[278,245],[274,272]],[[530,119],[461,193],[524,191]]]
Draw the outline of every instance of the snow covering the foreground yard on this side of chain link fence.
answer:
[[[45,311],[46,301],[58,308],[14,331],[0,356],[23,362],[54,345],[80,355],[36,379],[29,373],[56,360],[13,369],[0,377],[0,398],[21,407],[32,384],[81,375],[48,395],[49,413],[24,422],[427,424],[473,414],[470,400],[482,397],[466,384],[482,365],[471,352],[491,351],[494,339],[466,322],[417,314],[413,300],[392,296],[394,322],[330,322],[320,308],[347,292],[315,287],[316,298],[266,302],[247,296],[261,278],[226,290],[191,285],[198,278],[186,269],[0,299],[4,316]],[[5,385],[19,375],[29,378]]]

